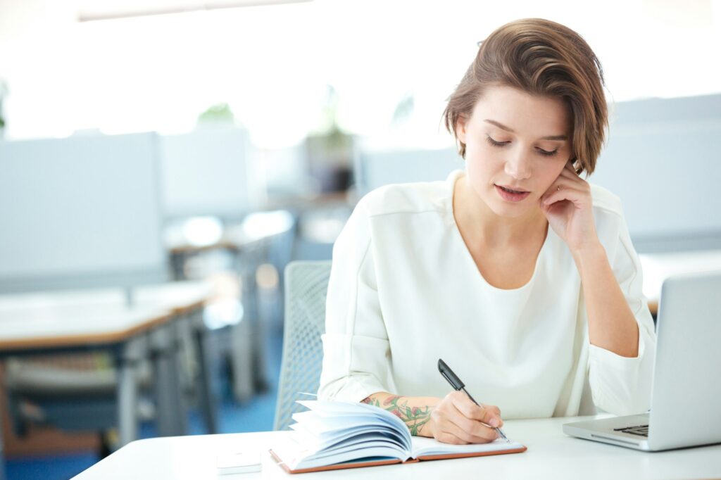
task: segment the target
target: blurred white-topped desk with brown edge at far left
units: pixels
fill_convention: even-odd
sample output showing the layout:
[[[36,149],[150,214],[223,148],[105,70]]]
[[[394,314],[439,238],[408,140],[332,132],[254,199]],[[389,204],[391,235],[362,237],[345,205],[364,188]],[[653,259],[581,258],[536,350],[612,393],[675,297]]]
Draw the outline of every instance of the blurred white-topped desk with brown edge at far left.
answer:
[[[195,341],[185,345],[191,343],[195,347],[190,360],[199,368],[200,403],[208,431],[216,432],[203,325],[198,315],[211,295],[212,286],[203,282],[148,285],[133,290],[0,295],[0,360],[88,352],[110,354],[115,369],[109,365],[111,374],[102,380],[115,386],[117,427],[120,444],[124,445],[137,437],[136,370],[146,357],[151,358],[153,365],[159,435],[185,433],[186,412],[177,367],[182,361],[180,355],[187,356],[187,349],[180,348],[180,337],[192,336]],[[25,360],[20,363],[19,375],[14,379],[19,388],[49,391],[58,388],[62,392],[66,378],[48,375],[52,369],[43,373],[42,368],[34,369],[32,363],[25,365]],[[26,372],[30,375],[25,375]],[[76,376],[81,377],[83,372],[78,373]],[[33,382],[37,385],[31,385]],[[92,396],[92,382],[86,383]]]

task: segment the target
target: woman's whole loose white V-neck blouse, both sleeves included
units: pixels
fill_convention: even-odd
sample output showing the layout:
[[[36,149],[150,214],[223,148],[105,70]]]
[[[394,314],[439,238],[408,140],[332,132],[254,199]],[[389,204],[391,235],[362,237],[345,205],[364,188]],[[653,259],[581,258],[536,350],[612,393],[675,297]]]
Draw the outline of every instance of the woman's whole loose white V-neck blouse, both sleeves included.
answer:
[[[356,205],[333,248],[319,399],[443,398],[442,358],[504,419],[647,411],[655,332],[619,198],[591,186],[598,237],[638,322],[635,358],[590,345],[578,269],[552,228],[526,285],[486,282],[454,219],[461,174],[387,185]]]

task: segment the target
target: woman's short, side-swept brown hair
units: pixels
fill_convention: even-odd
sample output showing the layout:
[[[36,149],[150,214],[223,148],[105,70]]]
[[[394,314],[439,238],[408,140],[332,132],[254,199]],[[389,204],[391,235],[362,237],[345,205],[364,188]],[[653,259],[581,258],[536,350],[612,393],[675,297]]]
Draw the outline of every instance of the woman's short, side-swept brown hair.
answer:
[[[443,119],[456,139],[459,119],[472,115],[491,85],[561,98],[573,125],[571,158],[578,160],[578,172],[593,173],[606,138],[609,112],[601,62],[583,37],[540,18],[516,20],[492,32],[480,43],[475,60],[448,97]],[[466,158],[466,145],[459,143],[459,154]]]

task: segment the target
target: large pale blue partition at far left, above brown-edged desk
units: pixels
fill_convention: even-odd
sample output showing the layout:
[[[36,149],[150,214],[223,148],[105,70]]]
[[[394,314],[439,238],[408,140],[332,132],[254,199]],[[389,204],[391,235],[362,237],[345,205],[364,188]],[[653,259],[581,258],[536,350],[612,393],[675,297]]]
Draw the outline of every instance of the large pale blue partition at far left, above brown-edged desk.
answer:
[[[0,142],[0,292],[167,278],[154,133]]]

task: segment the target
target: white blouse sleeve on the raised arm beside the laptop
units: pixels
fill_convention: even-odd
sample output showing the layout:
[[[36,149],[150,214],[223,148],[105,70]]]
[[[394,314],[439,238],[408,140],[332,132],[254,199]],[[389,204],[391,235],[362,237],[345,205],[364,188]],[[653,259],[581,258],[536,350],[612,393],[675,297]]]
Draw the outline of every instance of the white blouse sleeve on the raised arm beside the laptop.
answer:
[[[616,415],[630,415],[650,408],[656,334],[647,298],[642,293],[641,263],[624,216],[621,214],[614,224],[615,232],[610,238],[616,241],[604,247],[638,324],[638,356],[622,357],[589,344],[588,381],[596,406]]]

